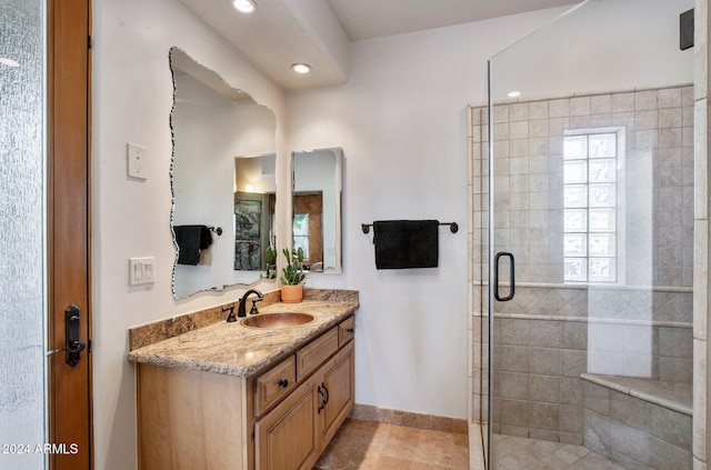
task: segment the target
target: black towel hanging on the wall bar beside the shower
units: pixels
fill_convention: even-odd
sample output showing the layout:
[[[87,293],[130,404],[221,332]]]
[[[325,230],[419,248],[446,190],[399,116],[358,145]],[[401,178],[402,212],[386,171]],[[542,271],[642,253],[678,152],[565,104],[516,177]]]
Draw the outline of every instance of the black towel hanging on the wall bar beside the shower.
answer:
[[[437,268],[438,220],[381,220],[373,222],[375,268]]]

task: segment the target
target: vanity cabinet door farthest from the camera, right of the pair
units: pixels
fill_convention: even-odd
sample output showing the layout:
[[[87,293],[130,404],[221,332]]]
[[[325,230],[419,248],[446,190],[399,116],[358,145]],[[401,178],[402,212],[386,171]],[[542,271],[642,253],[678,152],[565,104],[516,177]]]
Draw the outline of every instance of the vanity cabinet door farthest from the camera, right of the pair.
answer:
[[[351,341],[327,364],[321,389],[328,401],[319,412],[324,449],[353,408],[353,342]]]

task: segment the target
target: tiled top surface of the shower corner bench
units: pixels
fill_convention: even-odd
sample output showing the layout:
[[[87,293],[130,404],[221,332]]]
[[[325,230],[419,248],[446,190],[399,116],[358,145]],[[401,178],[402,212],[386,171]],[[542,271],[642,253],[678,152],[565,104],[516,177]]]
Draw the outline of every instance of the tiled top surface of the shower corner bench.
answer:
[[[689,417],[693,414],[691,383],[598,373],[581,373],[580,378]]]

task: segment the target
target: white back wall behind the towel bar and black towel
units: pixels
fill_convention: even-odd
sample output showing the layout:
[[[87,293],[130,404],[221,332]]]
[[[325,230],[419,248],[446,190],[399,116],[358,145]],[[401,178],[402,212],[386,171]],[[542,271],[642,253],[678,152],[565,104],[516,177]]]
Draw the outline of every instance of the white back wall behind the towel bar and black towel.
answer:
[[[487,60],[565,11],[356,42],[342,87],[288,96],[291,150],[342,147],[343,274],[312,287],[360,290],[356,402],[467,416],[467,103],[485,102]],[[378,271],[381,219],[440,228],[439,268]]]

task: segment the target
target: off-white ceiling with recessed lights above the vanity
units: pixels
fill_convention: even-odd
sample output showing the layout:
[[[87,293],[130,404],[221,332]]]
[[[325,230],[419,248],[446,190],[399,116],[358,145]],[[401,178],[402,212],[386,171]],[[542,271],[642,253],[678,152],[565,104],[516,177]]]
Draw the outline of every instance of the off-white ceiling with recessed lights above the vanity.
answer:
[[[580,0],[254,0],[241,14],[231,0],[179,0],[287,91],[348,82],[354,41],[480,21]],[[306,62],[309,74],[291,71]]]

